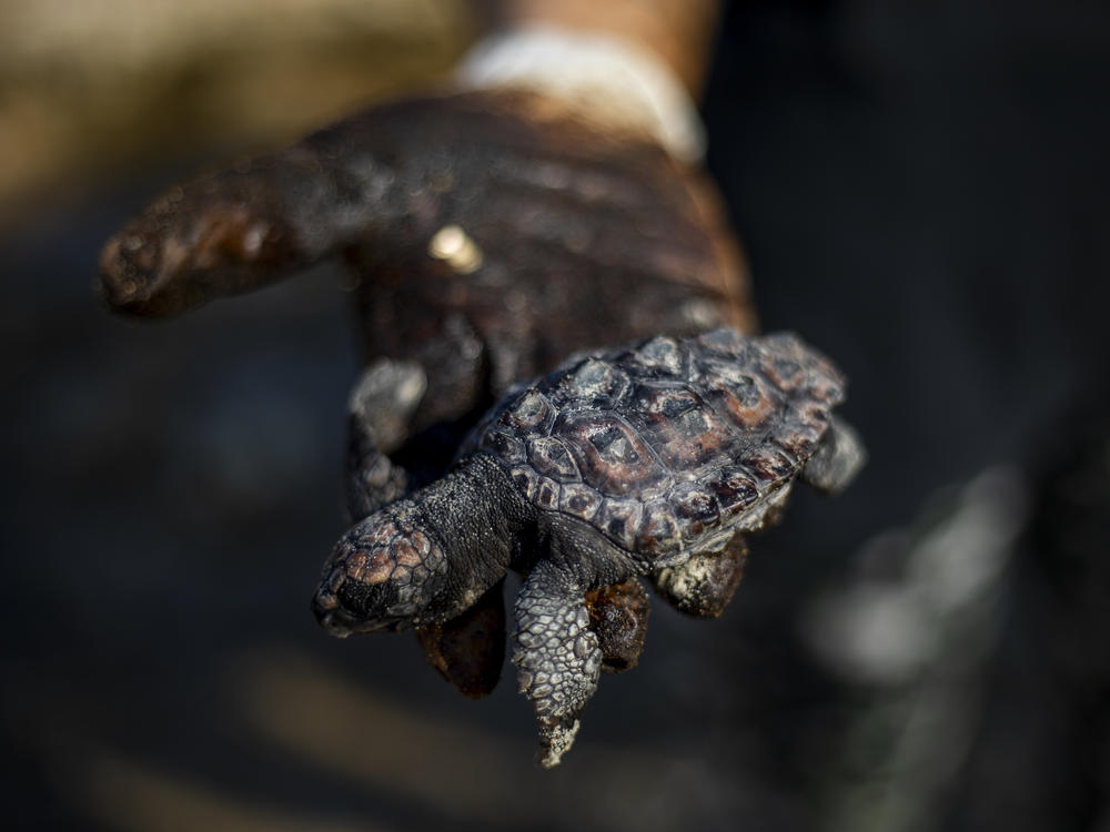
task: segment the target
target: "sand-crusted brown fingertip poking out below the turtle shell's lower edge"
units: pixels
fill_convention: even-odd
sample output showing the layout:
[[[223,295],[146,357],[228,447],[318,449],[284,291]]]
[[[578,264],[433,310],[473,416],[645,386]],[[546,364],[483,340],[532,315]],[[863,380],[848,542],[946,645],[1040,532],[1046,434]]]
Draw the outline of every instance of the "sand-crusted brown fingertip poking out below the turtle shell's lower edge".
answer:
[[[653,582],[679,612],[717,618],[740,585],[747,555],[744,537],[733,535],[720,549],[694,552],[682,564],[660,569],[653,576]]]

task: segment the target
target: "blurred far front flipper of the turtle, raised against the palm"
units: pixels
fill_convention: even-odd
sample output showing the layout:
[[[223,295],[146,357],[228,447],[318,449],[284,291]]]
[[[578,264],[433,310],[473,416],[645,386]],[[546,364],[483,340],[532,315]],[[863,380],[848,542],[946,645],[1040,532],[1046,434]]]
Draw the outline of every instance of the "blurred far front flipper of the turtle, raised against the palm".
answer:
[[[418,364],[380,358],[351,390],[346,503],[352,522],[404,496],[408,474],[386,454],[408,438],[412,417],[427,389]]]

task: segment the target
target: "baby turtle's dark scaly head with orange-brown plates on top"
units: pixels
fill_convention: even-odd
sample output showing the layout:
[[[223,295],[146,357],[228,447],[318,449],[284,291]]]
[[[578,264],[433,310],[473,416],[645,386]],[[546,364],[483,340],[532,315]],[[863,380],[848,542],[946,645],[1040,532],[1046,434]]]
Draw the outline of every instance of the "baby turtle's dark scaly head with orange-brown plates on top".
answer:
[[[401,500],[347,530],[312,599],[324,629],[340,637],[403,630],[440,606],[446,558],[422,519],[410,500]]]

